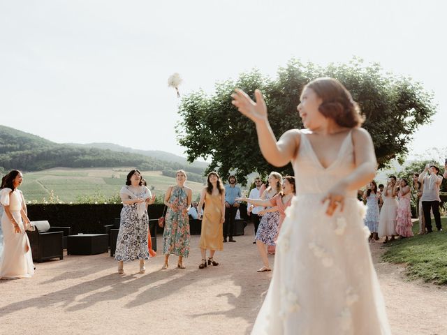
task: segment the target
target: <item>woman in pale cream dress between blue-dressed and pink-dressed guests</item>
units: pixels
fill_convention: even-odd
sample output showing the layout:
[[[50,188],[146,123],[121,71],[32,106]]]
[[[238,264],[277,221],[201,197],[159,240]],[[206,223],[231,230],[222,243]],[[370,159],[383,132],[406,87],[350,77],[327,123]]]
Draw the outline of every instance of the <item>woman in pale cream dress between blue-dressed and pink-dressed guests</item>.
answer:
[[[385,243],[388,242],[388,236],[391,237],[390,241],[395,239],[396,225],[397,225],[397,202],[396,195],[398,191],[398,183],[395,176],[390,176],[386,187],[383,190],[383,204],[380,211],[379,218],[379,237],[385,237]]]

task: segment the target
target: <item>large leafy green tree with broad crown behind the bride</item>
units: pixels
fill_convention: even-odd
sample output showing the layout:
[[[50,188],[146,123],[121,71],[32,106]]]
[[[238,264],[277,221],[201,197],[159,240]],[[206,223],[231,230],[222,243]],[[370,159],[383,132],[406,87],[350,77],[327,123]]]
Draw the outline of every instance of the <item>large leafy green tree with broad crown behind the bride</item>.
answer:
[[[214,94],[196,91],[184,96],[179,107],[182,122],[176,131],[188,160],[211,158],[207,172],[217,170],[222,177],[235,172],[242,184],[251,172],[292,174],[290,164],[275,168],[263,159],[254,124],[237,112],[230,94],[235,87],[249,94],[261,89],[270,125],[279,138],[288,129],[302,128],[296,110],[300,92],[310,80],[325,76],[340,80],[360,104],[366,117],[363,127],[372,135],[380,168],[393,158],[404,160],[412,134],[435,112],[432,94],[410,78],[383,73],[378,64],[365,66],[353,59],[349,64],[321,67],[292,59],[274,79],[252,70],[235,81],[217,83]]]

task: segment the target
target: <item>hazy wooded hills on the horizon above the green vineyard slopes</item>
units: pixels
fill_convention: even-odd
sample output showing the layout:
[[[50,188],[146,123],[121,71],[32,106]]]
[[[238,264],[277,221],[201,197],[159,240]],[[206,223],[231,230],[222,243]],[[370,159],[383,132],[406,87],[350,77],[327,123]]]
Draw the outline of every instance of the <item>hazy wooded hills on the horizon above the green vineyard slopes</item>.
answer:
[[[164,158],[164,159],[162,159]],[[135,166],[161,170],[172,176],[175,170],[189,172],[192,181],[203,181],[206,163],[189,164],[186,158],[165,151],[145,151],[110,143],[59,144],[43,137],[0,125],[0,168],[40,171],[49,168],[99,168]]]

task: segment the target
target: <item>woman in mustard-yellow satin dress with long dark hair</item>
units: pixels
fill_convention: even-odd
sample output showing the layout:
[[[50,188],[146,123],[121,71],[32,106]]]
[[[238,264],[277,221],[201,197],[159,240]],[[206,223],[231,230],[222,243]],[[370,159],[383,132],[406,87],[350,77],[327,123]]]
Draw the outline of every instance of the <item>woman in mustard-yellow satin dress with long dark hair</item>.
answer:
[[[202,207],[205,202],[205,209]],[[208,265],[217,266],[214,260],[214,252],[223,250],[223,222],[225,221],[225,189],[217,172],[210,172],[207,179],[207,187],[203,188],[198,203],[198,218],[202,220],[202,232],[200,234],[199,247],[202,252],[202,262],[198,266],[203,269]],[[207,260],[207,249],[210,257]]]

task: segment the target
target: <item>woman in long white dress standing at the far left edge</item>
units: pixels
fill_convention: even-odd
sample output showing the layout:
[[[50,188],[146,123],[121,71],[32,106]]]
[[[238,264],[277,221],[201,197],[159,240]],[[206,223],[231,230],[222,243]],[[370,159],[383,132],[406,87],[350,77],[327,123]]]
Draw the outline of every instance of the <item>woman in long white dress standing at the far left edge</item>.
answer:
[[[33,257],[26,229],[31,229],[22,191],[22,172],[13,170],[6,174],[0,191],[3,205],[1,229],[3,230],[3,255],[0,260],[0,278],[29,278],[34,274]]]

